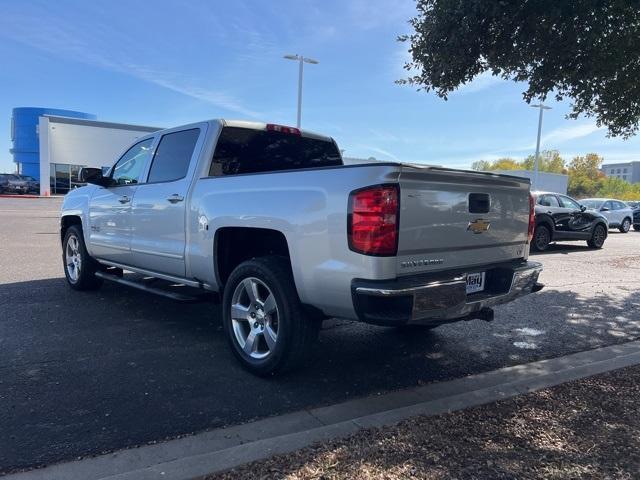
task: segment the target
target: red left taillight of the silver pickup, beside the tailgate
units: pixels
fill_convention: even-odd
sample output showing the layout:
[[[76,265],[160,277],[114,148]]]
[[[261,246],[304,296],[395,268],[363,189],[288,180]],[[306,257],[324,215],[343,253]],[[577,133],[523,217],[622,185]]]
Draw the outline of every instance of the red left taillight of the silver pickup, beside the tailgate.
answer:
[[[364,255],[391,256],[398,251],[397,185],[379,185],[349,195],[349,248]]]

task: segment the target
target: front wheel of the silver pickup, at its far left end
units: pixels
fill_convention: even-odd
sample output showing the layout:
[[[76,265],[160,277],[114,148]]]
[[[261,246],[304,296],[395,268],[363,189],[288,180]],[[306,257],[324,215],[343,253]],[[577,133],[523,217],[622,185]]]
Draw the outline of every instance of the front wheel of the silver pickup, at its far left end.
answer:
[[[82,228],[73,225],[67,229],[62,241],[62,266],[69,286],[75,290],[95,290],[102,286],[102,279],[95,273],[100,264],[87,252]]]

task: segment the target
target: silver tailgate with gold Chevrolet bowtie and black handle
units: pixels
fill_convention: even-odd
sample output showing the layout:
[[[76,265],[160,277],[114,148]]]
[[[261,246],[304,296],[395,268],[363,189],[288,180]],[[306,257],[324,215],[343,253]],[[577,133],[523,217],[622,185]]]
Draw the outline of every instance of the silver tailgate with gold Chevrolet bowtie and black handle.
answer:
[[[529,180],[403,165],[398,274],[528,255]]]

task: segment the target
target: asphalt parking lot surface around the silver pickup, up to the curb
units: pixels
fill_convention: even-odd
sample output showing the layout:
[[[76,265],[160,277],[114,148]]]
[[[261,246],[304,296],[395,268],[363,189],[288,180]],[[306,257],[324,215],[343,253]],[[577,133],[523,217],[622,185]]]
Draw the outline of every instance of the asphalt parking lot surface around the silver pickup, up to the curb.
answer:
[[[214,305],[66,287],[56,199],[0,199],[0,472],[640,338],[640,233],[536,255],[547,285],[424,334],[331,322],[304,369],[234,362]]]

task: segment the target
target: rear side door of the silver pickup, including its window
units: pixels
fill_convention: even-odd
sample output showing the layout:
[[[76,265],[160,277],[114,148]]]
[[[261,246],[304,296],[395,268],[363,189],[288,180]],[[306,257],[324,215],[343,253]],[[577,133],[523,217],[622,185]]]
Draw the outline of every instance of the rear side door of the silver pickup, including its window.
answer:
[[[184,277],[186,207],[206,124],[164,134],[132,204],[131,265]]]

